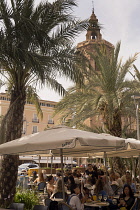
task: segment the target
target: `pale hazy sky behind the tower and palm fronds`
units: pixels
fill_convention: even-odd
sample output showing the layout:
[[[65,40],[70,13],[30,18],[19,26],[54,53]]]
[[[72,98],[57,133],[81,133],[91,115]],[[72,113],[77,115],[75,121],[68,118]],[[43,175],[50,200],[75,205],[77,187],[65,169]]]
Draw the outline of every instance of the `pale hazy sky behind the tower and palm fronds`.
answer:
[[[36,3],[40,0],[35,0]],[[48,0],[52,2],[53,0]],[[77,0],[78,7],[73,14],[80,19],[87,19],[92,12],[92,0]],[[94,0],[95,14],[102,24],[102,38],[116,44],[121,40],[120,57],[125,61],[129,56],[140,52],[140,0]],[[75,41],[85,41],[85,34],[81,34]],[[140,69],[140,55],[135,62]],[[59,80],[68,88],[70,81]],[[38,91],[39,96],[45,100],[59,101],[60,96],[49,89]]]

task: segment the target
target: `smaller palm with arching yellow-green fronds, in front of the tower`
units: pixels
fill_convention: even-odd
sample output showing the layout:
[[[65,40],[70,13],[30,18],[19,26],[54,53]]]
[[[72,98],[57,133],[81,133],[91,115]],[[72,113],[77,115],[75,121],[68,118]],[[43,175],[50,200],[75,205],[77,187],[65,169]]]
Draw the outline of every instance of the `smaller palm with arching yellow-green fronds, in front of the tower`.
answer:
[[[88,118],[102,118],[103,131],[115,136],[122,135],[122,117],[133,116],[134,103],[131,96],[136,83],[128,81],[126,74],[133,67],[137,54],[124,64],[119,61],[120,42],[116,48],[108,51],[105,46],[96,48],[96,55],[90,54],[97,69],[84,69],[84,86],[72,87],[58,103],[55,113],[62,114],[62,120],[81,127]],[[132,108],[133,107],[133,108]]]

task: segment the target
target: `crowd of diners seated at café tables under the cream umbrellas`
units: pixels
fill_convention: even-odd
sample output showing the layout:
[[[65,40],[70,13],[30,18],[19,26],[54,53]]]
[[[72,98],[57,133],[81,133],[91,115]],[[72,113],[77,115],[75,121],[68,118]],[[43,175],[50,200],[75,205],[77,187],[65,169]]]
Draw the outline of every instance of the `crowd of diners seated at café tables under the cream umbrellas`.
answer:
[[[32,181],[35,184],[47,182],[46,190],[50,198],[63,195],[62,176],[58,172],[56,176],[47,176],[45,170],[39,176],[34,172]],[[115,186],[117,191],[112,186]],[[135,183],[129,171],[120,177],[119,173],[98,169],[96,165],[88,164],[84,173],[80,170],[67,170],[64,173],[64,191],[67,203],[75,210],[91,209],[84,203],[92,200],[109,203],[108,209],[130,210],[135,202]],[[114,197],[118,194],[114,202]],[[104,199],[105,198],[105,199]],[[106,207],[103,207],[106,209]]]

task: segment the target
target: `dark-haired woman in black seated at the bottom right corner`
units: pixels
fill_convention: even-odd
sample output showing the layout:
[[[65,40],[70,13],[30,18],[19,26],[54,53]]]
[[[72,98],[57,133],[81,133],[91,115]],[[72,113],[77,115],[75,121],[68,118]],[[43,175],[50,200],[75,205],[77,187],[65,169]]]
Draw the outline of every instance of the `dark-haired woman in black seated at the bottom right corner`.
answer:
[[[125,185],[123,188],[123,194],[120,195],[118,207],[121,209],[121,207],[125,207],[127,210],[130,210],[133,206],[135,201],[134,194],[132,192],[132,189],[130,185]]]

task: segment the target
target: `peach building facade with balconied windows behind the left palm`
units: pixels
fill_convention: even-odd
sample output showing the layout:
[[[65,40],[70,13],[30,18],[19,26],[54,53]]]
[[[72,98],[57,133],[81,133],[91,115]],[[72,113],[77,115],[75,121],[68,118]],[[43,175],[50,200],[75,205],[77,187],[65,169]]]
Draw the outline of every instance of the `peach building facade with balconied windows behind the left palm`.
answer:
[[[4,116],[9,108],[10,97],[6,93],[0,93],[0,116]],[[43,119],[37,115],[34,104],[26,102],[23,116],[22,135],[29,135],[43,131],[46,128],[53,127],[59,123],[59,116],[53,117],[54,108],[57,102],[40,100]]]

